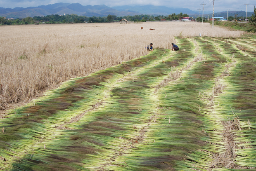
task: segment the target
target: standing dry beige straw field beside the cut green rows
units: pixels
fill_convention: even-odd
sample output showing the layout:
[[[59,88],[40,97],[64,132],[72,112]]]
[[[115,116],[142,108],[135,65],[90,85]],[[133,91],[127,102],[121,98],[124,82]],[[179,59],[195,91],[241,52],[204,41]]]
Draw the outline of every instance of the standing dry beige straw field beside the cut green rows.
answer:
[[[244,34],[212,29],[209,23],[178,22],[0,26],[0,30],[0,110],[37,98],[70,78],[145,55],[149,43],[170,49],[175,36]]]

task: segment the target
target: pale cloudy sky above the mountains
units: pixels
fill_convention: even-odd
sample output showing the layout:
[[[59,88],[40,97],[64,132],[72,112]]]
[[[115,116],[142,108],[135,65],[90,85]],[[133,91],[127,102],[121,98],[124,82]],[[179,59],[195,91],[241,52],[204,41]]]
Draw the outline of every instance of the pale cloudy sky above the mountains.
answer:
[[[80,3],[81,5],[107,5],[114,7],[119,5],[156,5],[173,8],[188,8],[193,11],[197,9],[205,12],[213,11],[213,0],[0,0],[0,7],[15,8],[15,7],[37,7],[39,5],[55,4],[58,2],[64,3]],[[223,12],[229,9],[230,11],[245,11],[246,5],[248,12],[254,12],[255,0],[215,0],[214,11]],[[252,4],[252,5],[251,5]],[[200,11],[201,11],[200,10]]]

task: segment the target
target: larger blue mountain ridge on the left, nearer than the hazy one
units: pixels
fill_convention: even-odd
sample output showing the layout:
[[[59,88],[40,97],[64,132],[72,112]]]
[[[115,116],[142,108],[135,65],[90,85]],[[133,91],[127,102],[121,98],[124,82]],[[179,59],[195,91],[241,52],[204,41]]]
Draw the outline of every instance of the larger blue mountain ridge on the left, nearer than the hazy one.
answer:
[[[69,3],[56,3],[50,5],[40,5],[38,7],[16,7],[2,8],[0,7],[0,16],[5,16],[7,18],[26,18],[28,16],[46,16],[51,14],[77,14],[82,16],[107,16],[109,14],[116,16],[126,16],[126,15],[140,15],[138,12],[127,12],[118,11],[116,9],[107,7],[106,5],[86,5],[83,6],[79,3],[69,4]]]

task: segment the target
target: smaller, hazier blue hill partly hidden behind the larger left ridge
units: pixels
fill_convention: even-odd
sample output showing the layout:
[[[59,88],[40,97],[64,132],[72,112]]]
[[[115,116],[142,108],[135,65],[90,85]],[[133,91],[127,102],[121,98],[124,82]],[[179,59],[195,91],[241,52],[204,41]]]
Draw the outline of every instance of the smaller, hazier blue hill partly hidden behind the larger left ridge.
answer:
[[[116,10],[119,11],[127,11],[127,12],[138,12],[141,14],[149,14],[149,15],[169,15],[169,14],[180,14],[186,13],[186,14],[194,14],[195,12],[188,9],[188,8],[169,8],[165,6],[154,6],[154,5],[143,5],[143,6],[129,6],[129,5],[124,5],[124,6],[116,6],[112,7]]]

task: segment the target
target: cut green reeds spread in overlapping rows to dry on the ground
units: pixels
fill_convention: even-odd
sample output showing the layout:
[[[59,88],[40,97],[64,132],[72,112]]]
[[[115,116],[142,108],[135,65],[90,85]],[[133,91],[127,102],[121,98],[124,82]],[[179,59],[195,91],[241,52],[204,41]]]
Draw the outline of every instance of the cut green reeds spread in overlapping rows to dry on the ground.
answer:
[[[255,40],[171,42],[10,110],[0,170],[255,170]]]

